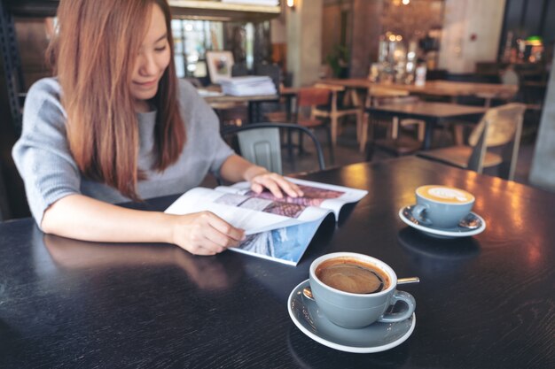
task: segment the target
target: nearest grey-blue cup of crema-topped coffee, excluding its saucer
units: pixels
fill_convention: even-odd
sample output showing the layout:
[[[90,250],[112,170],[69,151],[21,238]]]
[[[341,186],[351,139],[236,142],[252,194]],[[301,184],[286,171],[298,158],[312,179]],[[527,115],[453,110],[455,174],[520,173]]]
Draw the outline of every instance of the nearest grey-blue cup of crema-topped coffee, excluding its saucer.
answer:
[[[363,254],[335,252],[317,258],[310,265],[309,282],[318,310],[340,327],[402,321],[409,319],[416,307],[413,296],[396,290],[394,270]],[[389,312],[398,302],[401,311]]]

